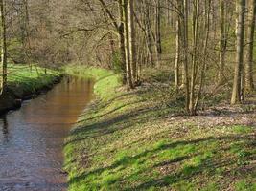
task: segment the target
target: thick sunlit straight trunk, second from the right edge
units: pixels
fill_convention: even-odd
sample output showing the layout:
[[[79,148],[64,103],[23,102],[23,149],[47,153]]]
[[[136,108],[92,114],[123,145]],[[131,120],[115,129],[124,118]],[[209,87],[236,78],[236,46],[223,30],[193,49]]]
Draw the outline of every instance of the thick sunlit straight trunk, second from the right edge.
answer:
[[[237,0],[237,57],[233,81],[233,91],[231,104],[241,103],[242,101],[242,75],[244,63],[244,13],[245,0]]]

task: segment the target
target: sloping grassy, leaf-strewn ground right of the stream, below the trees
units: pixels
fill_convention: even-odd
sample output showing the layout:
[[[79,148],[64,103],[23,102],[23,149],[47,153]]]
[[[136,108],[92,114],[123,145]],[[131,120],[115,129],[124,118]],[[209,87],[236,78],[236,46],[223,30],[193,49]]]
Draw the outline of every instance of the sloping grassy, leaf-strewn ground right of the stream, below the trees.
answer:
[[[255,96],[188,117],[163,72],[130,92],[112,72],[67,73],[96,78],[97,96],[66,139],[69,190],[256,190]]]

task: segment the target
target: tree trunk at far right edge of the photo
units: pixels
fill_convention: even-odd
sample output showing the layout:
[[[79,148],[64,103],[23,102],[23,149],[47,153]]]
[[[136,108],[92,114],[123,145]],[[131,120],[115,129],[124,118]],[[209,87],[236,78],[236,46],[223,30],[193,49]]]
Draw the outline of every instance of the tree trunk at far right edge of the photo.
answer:
[[[249,0],[250,10],[248,12],[248,47],[245,62],[245,87],[248,92],[254,89],[253,84],[253,50],[254,50],[254,32],[256,19],[256,0]]]

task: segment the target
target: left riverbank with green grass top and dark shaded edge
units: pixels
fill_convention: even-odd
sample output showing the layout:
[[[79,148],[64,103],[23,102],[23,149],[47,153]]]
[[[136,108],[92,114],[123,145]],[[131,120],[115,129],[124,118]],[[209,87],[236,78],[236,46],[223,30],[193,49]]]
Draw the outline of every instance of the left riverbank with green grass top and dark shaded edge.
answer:
[[[9,65],[8,87],[0,96],[0,115],[17,109],[25,99],[33,98],[50,90],[61,79],[61,74],[27,65]]]

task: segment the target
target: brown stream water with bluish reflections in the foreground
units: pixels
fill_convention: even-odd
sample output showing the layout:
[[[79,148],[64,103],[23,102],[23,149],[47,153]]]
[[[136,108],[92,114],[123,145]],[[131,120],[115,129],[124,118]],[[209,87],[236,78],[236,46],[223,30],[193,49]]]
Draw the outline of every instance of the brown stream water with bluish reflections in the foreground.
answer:
[[[62,145],[92,98],[93,82],[64,78],[52,91],[0,117],[0,190],[66,190]]]

